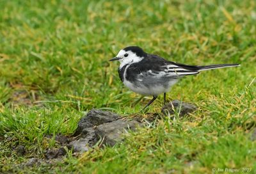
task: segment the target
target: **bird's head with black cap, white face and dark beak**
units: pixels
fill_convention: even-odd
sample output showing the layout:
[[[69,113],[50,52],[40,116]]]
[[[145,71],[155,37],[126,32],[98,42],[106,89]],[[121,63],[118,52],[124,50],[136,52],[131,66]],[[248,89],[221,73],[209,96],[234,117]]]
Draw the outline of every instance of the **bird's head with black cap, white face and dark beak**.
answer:
[[[141,61],[143,58],[147,56],[147,53],[143,51],[140,47],[130,46],[121,49],[115,58],[110,59],[109,61],[120,61],[120,67],[128,63],[136,63]]]

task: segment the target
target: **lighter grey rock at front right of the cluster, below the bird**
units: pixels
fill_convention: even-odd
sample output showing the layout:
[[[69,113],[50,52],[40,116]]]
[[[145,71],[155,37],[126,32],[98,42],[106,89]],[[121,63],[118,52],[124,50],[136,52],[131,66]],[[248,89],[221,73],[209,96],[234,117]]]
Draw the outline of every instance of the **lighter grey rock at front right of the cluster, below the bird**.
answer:
[[[122,134],[125,133],[125,129],[131,129],[134,131],[136,127],[141,123],[131,120],[116,120],[114,122],[104,123],[97,126],[95,132],[100,138],[104,138],[103,144],[113,146],[117,141],[122,140]]]

